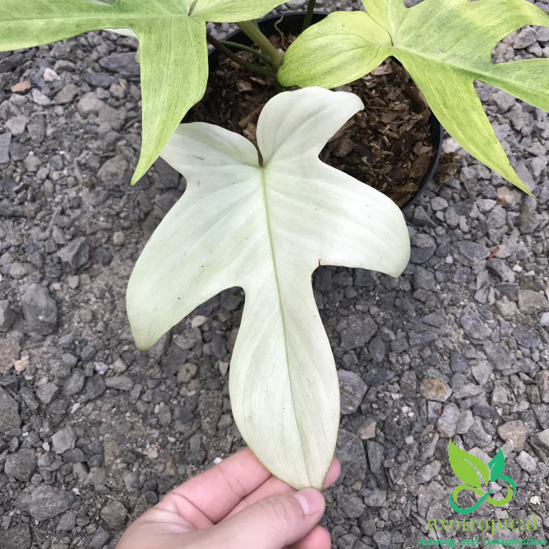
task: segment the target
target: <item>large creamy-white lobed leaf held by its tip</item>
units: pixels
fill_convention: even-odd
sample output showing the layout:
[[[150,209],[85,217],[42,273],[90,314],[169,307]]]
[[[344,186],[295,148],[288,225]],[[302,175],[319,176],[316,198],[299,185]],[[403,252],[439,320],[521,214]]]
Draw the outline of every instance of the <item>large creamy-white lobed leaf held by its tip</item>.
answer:
[[[397,277],[410,255],[399,208],[318,159],[361,108],[351,93],[280,93],[257,124],[263,167],[240,135],[179,126],[161,156],[187,178],[187,191],[128,285],[140,349],[221,290],[244,288],[229,374],[233,416],[261,462],[298,489],[322,487],[339,423],[338,377],[312,272],[332,264]]]

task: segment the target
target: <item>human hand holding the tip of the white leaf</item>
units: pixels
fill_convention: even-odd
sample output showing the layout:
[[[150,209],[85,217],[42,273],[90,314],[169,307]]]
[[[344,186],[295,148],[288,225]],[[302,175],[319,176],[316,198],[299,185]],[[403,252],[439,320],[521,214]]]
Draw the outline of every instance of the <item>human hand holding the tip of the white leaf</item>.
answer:
[[[324,488],[340,471],[334,458]],[[296,492],[244,448],[167,493],[116,549],[330,549],[324,508],[318,490]]]

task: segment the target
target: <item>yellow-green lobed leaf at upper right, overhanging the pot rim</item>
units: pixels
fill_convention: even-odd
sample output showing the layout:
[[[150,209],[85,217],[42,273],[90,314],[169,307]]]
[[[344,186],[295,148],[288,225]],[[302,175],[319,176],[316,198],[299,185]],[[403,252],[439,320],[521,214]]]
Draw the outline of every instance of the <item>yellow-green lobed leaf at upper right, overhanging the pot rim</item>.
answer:
[[[524,25],[549,26],[526,0],[363,0],[364,12],[336,12],[288,49],[283,86],[347,84],[394,56],[447,132],[476,159],[531,194],[500,145],[474,89],[480,80],[549,110],[549,60],[494,64],[502,38]],[[332,39],[332,37],[334,37]]]

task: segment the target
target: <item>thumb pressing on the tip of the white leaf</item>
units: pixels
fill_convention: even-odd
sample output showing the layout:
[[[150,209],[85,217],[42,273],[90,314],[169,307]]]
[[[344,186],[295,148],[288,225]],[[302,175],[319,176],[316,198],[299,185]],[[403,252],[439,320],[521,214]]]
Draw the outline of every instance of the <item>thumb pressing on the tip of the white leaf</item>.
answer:
[[[213,527],[227,549],[282,549],[316,526],[325,509],[324,496],[314,488],[270,495]]]

